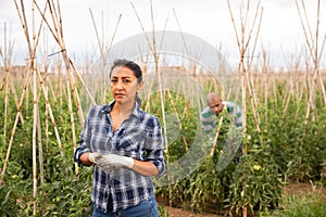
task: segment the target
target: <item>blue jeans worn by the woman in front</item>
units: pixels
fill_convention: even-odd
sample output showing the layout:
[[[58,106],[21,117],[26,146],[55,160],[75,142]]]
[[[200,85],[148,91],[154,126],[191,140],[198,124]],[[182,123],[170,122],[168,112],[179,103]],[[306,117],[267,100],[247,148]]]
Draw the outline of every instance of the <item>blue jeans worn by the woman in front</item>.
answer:
[[[159,217],[159,209],[154,194],[150,199],[142,201],[137,206],[112,213],[103,213],[96,205],[93,205],[92,217]]]

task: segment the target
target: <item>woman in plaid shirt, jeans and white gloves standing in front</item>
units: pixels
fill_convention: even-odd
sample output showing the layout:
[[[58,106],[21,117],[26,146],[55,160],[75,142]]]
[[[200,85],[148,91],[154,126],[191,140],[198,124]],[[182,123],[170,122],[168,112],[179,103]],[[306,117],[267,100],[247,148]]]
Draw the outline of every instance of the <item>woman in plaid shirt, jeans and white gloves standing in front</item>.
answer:
[[[95,165],[93,216],[159,216],[151,176],[165,170],[159,119],[140,108],[142,72],[116,60],[110,72],[114,100],[90,108],[74,159]]]

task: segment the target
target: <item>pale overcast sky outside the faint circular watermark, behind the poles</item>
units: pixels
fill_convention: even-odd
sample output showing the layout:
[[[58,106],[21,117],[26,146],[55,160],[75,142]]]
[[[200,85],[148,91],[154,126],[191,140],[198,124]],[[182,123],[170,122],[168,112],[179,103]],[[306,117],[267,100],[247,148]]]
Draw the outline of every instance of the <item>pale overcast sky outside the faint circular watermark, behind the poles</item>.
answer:
[[[27,52],[26,39],[12,0],[0,0],[0,48],[4,48],[4,23],[11,41],[14,41],[14,62],[20,62]],[[30,2],[24,1],[32,26]],[[39,1],[38,1],[39,2]],[[62,0],[60,1],[63,21],[64,40],[71,56],[85,53],[99,54],[99,47],[90,11],[95,16],[100,37],[110,43],[120,14],[121,22],[113,43],[130,36],[141,34],[142,27],[131,7],[134,4],[146,31],[152,30],[150,0]],[[231,0],[231,10],[239,31],[240,0]],[[258,1],[251,0],[251,26]],[[298,0],[301,2],[301,0]],[[316,26],[316,3],[306,1],[308,17],[313,34]],[[227,0],[152,0],[154,28],[156,30],[181,30],[200,37],[214,47],[221,48],[230,61],[238,61],[238,47]],[[326,34],[326,0],[321,1],[321,38]],[[276,67],[288,66],[300,56],[305,46],[305,38],[300,22],[296,0],[262,0],[263,20],[259,36],[259,48],[264,48],[271,55],[271,63]],[[303,11],[302,11],[303,12]],[[39,14],[37,14],[39,16]],[[36,22],[37,23],[37,22]],[[102,25],[104,26],[102,28]],[[102,33],[104,29],[104,33]],[[255,34],[255,33],[254,33]],[[48,33],[47,44],[51,44]],[[252,36],[254,38],[254,36]],[[322,39],[321,39],[322,41]],[[43,42],[42,42],[43,43]],[[55,50],[55,46],[48,46]],[[319,46],[321,47],[321,46]],[[325,53],[325,52],[324,52]],[[256,54],[261,58],[260,53]],[[324,54],[324,59],[325,54]],[[1,63],[2,65],[2,63]]]

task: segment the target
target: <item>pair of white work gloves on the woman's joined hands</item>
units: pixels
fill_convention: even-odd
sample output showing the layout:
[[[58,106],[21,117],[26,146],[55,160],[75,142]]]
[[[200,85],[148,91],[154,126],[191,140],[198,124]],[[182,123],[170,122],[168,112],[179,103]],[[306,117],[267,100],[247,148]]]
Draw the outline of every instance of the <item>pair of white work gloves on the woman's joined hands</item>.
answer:
[[[95,164],[103,170],[111,170],[112,168],[121,168],[123,166],[131,168],[134,166],[134,159],[128,156],[116,154],[102,155],[99,153],[91,153],[90,156],[93,157]]]

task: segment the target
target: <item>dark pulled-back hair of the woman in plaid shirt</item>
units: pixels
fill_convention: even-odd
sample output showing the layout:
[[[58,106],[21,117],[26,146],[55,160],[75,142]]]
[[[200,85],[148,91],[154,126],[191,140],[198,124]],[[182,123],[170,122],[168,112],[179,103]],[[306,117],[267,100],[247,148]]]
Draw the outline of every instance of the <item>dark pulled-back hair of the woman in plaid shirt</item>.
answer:
[[[112,75],[112,71],[117,66],[123,66],[123,67],[129,68],[130,71],[134,72],[134,75],[137,78],[137,82],[140,84],[142,81],[142,72],[141,72],[140,66],[137,63],[135,63],[133,61],[129,61],[129,60],[126,60],[126,59],[117,59],[113,62],[113,65],[112,65],[111,71],[110,71],[110,78],[111,78],[111,75]],[[139,104],[139,106],[141,106],[141,100],[138,97],[138,92],[136,93],[136,99],[135,100]]]

